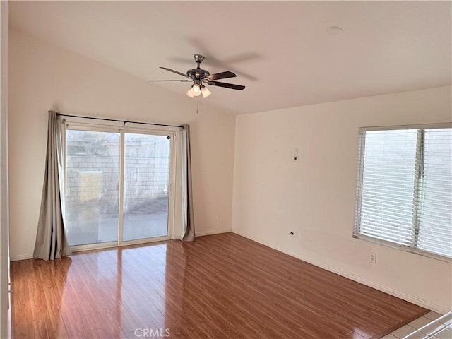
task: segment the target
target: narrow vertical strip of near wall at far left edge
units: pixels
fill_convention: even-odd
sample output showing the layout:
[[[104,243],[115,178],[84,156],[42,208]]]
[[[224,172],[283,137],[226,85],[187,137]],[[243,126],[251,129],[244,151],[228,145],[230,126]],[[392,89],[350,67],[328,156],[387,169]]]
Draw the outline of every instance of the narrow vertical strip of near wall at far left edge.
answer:
[[[0,338],[10,338],[8,249],[8,1],[0,2]]]

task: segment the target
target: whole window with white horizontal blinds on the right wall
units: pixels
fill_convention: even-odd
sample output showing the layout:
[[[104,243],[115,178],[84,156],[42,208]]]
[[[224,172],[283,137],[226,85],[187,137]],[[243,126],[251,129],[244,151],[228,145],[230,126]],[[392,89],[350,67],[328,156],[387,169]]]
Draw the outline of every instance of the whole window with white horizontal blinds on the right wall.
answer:
[[[359,130],[354,237],[450,261],[451,127]]]

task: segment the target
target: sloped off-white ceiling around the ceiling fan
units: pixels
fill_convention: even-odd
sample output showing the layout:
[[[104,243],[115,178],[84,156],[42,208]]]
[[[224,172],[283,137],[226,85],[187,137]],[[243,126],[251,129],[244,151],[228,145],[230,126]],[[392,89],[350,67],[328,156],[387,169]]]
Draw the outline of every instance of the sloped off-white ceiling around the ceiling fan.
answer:
[[[10,24],[143,81],[182,78],[158,66],[185,73],[203,54],[203,69],[233,71],[237,78],[222,81],[246,89],[210,86],[200,100],[245,114],[450,85],[451,4],[11,1]]]

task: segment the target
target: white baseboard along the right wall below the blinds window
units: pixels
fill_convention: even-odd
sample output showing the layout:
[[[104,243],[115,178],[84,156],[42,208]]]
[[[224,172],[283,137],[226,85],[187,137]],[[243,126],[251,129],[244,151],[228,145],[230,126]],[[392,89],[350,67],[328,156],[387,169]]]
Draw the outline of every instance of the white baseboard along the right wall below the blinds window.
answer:
[[[385,285],[381,285],[379,283],[374,283],[371,280],[368,280],[366,278],[362,278],[359,275],[352,274],[350,272],[347,272],[345,270],[341,270],[340,268],[336,268],[334,266],[326,265],[325,263],[321,263],[319,261],[316,261],[315,259],[306,257],[306,256],[300,256],[298,254],[290,253],[289,251],[286,251],[284,249],[280,249],[278,246],[274,246],[273,244],[269,244],[268,242],[263,241],[262,239],[258,239],[256,237],[251,237],[248,234],[240,233],[237,231],[232,230],[233,233],[239,234],[242,237],[245,237],[247,239],[253,240],[254,242],[258,242],[259,244],[263,244],[265,246],[268,246],[272,249],[275,249],[277,251],[283,252],[284,254],[288,254],[289,256],[294,256],[295,258],[306,261],[307,263],[311,263],[314,266],[323,268],[324,270],[329,270],[330,272],[336,273],[338,275],[342,275],[345,278],[348,278],[350,280],[354,280],[357,283],[361,283],[363,285],[367,285],[369,287],[373,287],[376,290],[379,290],[381,292],[388,293],[388,295],[393,295],[394,297],[398,297],[400,299],[403,299],[407,302],[412,302],[413,304],[417,304],[420,307],[425,307],[426,309],[431,309],[432,311],[435,311],[439,314],[446,314],[448,311],[451,311],[450,309],[445,309],[444,307],[441,307],[440,305],[434,304],[432,302],[429,302],[424,299],[420,299],[419,297],[416,297],[414,295],[408,295],[406,293],[400,292],[398,290],[393,290],[391,287],[387,287]]]

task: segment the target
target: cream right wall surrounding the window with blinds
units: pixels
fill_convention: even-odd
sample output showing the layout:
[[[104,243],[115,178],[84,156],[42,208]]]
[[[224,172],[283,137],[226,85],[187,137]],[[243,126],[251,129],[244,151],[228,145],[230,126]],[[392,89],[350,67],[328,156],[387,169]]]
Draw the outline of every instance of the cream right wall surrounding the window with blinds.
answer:
[[[436,311],[451,309],[450,263],[352,239],[359,126],[445,122],[451,114],[449,86],[238,116],[232,232]]]

